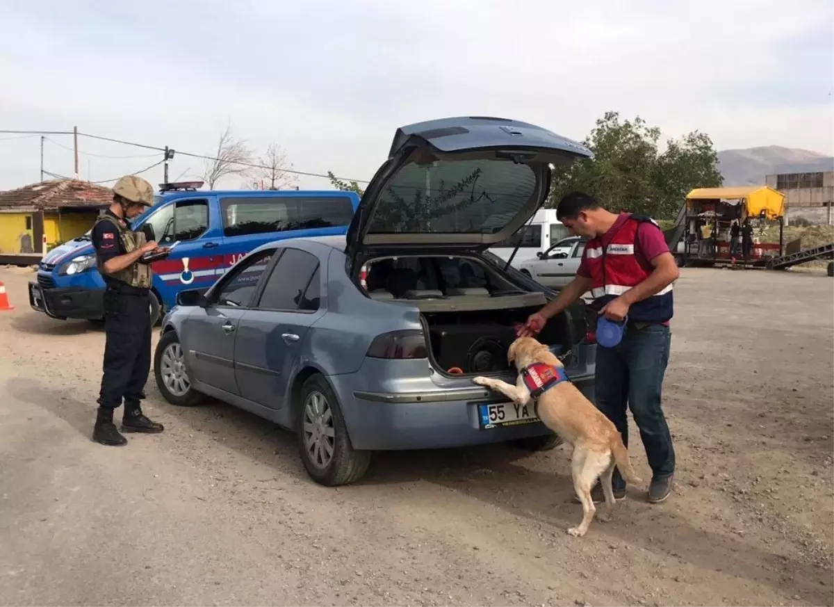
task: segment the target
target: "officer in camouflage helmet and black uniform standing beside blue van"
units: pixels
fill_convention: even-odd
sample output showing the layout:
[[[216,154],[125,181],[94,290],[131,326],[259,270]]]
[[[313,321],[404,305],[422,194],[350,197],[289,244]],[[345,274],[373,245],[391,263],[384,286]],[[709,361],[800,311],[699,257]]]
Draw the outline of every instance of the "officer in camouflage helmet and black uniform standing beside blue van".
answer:
[[[113,410],[124,400],[123,432],[162,432],[163,425],[144,416],[139,401],[151,364],[151,323],[148,293],[151,268],[140,259],[162,249],[133,232],[128,219],[153,204],[153,188],[143,178],[128,175],[113,186],[113,204],[93,225],[98,271],[104,291],[104,365],[93,440],[123,445],[128,440],[113,424]]]

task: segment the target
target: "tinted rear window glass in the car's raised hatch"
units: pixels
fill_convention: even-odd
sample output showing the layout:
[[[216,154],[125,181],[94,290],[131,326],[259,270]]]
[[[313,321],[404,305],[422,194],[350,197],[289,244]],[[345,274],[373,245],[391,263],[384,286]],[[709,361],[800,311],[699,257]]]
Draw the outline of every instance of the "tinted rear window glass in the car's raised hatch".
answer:
[[[369,233],[495,233],[535,193],[536,174],[505,160],[408,163],[381,194]]]

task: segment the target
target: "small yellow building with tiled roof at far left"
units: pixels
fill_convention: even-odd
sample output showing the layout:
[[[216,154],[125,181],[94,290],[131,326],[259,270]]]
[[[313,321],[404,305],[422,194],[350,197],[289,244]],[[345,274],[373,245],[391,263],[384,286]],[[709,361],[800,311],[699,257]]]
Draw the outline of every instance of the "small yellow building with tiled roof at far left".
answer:
[[[0,192],[0,263],[38,263],[44,253],[93,227],[113,190],[73,179]]]

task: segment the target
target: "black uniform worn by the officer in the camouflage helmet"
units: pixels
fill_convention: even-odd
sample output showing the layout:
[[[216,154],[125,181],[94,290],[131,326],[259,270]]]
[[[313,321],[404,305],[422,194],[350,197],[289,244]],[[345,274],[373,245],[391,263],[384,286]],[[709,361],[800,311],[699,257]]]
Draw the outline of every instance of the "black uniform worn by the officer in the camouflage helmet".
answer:
[[[109,210],[106,212],[128,226]],[[98,256],[99,268],[109,259],[126,253],[118,229],[112,222],[100,221],[91,234]],[[137,288],[102,273],[104,283],[104,364],[101,390],[98,395],[99,419],[112,424],[113,410],[124,401],[122,429],[134,432],[161,432],[162,424],[154,424],[139,408],[151,365],[151,319],[148,288]],[[113,428],[115,430],[115,428]],[[97,437],[98,439],[98,437]],[[123,437],[110,434],[106,444],[124,444]]]

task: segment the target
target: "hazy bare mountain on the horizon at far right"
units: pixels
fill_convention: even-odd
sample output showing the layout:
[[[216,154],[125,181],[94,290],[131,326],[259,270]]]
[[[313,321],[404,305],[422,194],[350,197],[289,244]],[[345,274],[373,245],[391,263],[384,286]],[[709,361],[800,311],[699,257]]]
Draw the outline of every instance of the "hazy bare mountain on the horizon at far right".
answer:
[[[834,158],[806,149],[761,148],[726,149],[718,153],[718,168],[724,185],[758,185],[765,175],[775,173],[814,173],[834,170]]]

